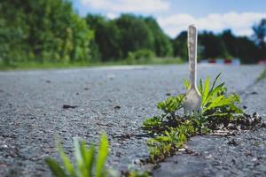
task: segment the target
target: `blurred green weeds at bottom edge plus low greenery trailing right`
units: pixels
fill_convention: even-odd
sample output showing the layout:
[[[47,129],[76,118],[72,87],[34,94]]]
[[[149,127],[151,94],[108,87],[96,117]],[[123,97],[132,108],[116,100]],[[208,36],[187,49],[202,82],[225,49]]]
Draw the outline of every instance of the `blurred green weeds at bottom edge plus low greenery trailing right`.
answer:
[[[57,143],[59,161],[52,158],[45,158],[45,163],[55,177],[150,177],[147,171],[128,170],[118,172],[106,168],[106,160],[109,154],[109,142],[105,134],[100,136],[98,147],[86,142],[74,140],[74,163],[66,155],[61,143]]]

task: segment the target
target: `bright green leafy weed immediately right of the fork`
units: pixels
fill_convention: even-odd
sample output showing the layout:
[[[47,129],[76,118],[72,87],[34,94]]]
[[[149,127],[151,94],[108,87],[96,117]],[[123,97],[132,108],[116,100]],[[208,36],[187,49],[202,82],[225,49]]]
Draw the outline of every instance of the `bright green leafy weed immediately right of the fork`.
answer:
[[[227,94],[227,88],[224,82],[216,86],[216,81],[221,73],[215,77],[215,81],[210,86],[210,78],[206,81],[200,79],[199,91],[202,99],[202,115],[197,119],[200,128],[205,125],[215,129],[220,124],[227,127],[228,124],[236,118],[236,114],[242,113],[239,108],[240,98],[237,94]],[[184,81],[186,88],[189,88],[189,81]]]

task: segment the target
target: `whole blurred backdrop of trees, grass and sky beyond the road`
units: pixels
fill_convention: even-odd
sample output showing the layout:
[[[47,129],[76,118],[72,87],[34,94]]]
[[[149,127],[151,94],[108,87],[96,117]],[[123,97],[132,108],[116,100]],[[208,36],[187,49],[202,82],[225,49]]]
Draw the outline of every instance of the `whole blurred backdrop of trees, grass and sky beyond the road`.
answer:
[[[264,0],[2,0],[0,69],[187,61],[265,64]]]

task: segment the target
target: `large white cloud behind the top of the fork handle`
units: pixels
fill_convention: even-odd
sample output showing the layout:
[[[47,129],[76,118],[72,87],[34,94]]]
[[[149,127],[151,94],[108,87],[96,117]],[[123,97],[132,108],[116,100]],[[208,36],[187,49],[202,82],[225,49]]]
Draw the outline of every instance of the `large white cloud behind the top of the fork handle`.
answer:
[[[252,26],[258,23],[262,18],[266,18],[266,13],[256,12],[228,12],[213,13],[206,17],[193,17],[190,14],[174,14],[166,17],[158,18],[160,27],[171,37],[176,37],[181,31],[195,24],[199,30],[208,30],[221,32],[223,29],[231,28],[235,35],[252,35]]]

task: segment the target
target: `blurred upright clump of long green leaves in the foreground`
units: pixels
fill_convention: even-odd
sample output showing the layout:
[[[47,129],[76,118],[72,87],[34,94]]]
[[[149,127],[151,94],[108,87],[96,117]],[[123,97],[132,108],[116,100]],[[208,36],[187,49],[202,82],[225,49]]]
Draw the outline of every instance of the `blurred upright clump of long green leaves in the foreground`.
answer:
[[[58,161],[51,158],[46,158],[45,162],[50,167],[52,174],[58,177],[108,176],[108,171],[105,168],[108,156],[108,147],[109,145],[106,135],[101,135],[98,152],[93,144],[90,145],[90,148],[88,149],[86,148],[85,142],[75,140],[75,165],[72,165],[70,159],[67,157],[60,144],[58,145],[58,150],[63,167]]]

